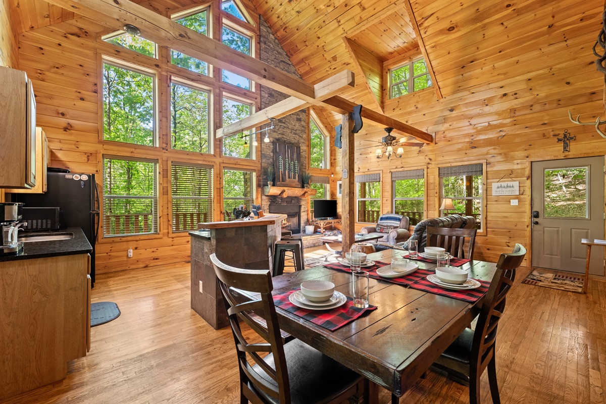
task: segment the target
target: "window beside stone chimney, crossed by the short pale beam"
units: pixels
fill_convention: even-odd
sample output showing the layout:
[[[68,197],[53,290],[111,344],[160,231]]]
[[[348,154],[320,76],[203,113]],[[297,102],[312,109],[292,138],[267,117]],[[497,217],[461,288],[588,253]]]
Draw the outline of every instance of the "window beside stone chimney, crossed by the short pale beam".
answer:
[[[252,113],[252,104],[223,99],[223,126],[239,121]],[[252,130],[247,130],[233,136],[223,138],[223,155],[240,157],[242,159],[255,159],[251,152]]]

